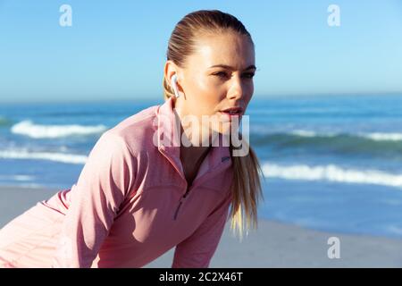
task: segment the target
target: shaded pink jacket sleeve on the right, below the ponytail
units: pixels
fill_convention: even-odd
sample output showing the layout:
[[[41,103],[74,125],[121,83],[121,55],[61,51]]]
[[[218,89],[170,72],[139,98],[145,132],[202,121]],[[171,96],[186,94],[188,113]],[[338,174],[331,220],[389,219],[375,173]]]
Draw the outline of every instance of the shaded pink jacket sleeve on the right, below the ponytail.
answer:
[[[223,199],[204,223],[175,248],[172,268],[207,268],[218,248],[228,218],[231,194]]]

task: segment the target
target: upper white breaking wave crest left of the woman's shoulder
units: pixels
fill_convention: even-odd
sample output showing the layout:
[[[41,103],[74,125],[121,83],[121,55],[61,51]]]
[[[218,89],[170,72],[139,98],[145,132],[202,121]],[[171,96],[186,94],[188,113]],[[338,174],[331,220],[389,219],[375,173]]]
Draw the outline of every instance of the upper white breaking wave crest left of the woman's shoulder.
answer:
[[[71,135],[90,135],[102,133],[107,130],[105,125],[40,125],[29,120],[18,122],[11,128],[14,134],[21,134],[35,139],[60,138]]]

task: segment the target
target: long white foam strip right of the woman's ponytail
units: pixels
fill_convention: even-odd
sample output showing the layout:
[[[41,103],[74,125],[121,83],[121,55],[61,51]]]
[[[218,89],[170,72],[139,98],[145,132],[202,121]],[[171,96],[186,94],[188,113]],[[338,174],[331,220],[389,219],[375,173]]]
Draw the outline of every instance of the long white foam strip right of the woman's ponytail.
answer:
[[[402,188],[402,174],[378,170],[356,170],[341,168],[334,164],[309,166],[306,164],[279,165],[263,164],[265,177],[303,181],[337,181],[357,184],[377,184]]]

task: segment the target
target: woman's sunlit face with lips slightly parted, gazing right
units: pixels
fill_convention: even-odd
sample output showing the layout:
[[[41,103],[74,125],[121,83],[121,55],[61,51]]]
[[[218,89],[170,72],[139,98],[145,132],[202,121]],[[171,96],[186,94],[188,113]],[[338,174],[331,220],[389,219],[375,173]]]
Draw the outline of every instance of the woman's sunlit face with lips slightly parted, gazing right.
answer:
[[[228,132],[236,122],[235,117],[222,113],[223,110],[240,107],[241,119],[253,96],[255,73],[254,47],[245,36],[224,33],[200,37],[186,67],[173,66],[175,70],[168,69],[167,75],[172,72],[172,76],[173,70],[178,75],[180,97],[175,99],[175,108],[180,118],[193,115],[202,123],[206,115],[217,124],[200,127],[221,133]]]

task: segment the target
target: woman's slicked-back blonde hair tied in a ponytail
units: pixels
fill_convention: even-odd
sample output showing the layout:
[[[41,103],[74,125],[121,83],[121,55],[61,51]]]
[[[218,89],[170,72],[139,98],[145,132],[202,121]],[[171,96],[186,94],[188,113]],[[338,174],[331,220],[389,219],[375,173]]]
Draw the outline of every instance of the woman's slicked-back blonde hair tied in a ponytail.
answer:
[[[246,36],[254,47],[251,35],[236,17],[219,10],[199,10],[188,13],[173,29],[167,49],[167,60],[185,67],[186,58],[195,52],[197,35],[223,32],[234,32]],[[164,77],[163,97],[165,100],[174,97],[174,91]],[[241,138],[241,133],[239,137]],[[245,140],[242,142],[247,144]],[[234,172],[231,182],[230,226],[235,234],[238,231],[240,240],[245,230],[248,233],[250,226],[257,228],[257,206],[260,198],[264,199],[260,182],[260,174],[263,177],[264,174],[255,152],[251,147],[247,147],[249,150],[247,156],[233,156],[234,147],[230,140],[230,156]]]

